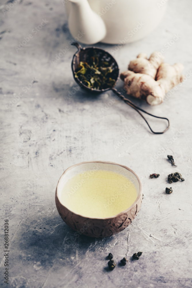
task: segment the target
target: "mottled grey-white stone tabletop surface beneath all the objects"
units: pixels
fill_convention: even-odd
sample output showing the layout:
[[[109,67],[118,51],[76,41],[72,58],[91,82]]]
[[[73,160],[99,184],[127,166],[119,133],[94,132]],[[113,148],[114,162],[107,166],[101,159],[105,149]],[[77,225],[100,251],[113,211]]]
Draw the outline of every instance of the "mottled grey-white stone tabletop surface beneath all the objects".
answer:
[[[165,134],[153,135],[138,113],[115,99],[113,92],[94,96],[78,90],[71,72],[77,49],[70,46],[61,1],[21,0],[5,15],[3,9],[11,2],[4,3],[0,4],[1,229],[3,219],[9,219],[10,265],[7,285],[1,230],[0,287],[191,288],[191,76],[159,106],[131,99],[149,113],[170,119]],[[145,39],[122,47],[97,45],[114,51],[120,72],[140,52],[149,56],[161,49],[166,62],[181,62],[184,74],[192,72],[192,3],[167,3],[160,25]],[[33,33],[42,19],[47,24]],[[29,34],[33,38],[17,52],[14,47]],[[173,42],[174,34],[178,38]],[[64,56],[56,57],[66,47]],[[117,89],[122,87],[119,80]],[[160,131],[166,122],[152,119],[151,125]],[[167,155],[173,155],[177,167]],[[137,217],[107,238],[75,234],[55,205],[63,171],[91,160],[126,165],[143,186]],[[173,193],[168,195],[167,175],[173,172],[181,173],[185,181],[171,184]],[[159,178],[150,179],[152,173]],[[140,259],[132,261],[138,251]],[[109,252],[117,264],[113,271],[107,268]],[[126,253],[128,263],[120,266]]]

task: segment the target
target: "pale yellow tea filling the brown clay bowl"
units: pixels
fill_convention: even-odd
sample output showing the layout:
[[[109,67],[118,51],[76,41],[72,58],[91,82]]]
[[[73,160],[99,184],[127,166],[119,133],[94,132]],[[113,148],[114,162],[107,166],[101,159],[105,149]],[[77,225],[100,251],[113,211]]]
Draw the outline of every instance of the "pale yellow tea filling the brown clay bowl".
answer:
[[[129,208],[137,198],[134,184],[119,173],[90,170],[67,181],[60,202],[76,214],[111,217]]]

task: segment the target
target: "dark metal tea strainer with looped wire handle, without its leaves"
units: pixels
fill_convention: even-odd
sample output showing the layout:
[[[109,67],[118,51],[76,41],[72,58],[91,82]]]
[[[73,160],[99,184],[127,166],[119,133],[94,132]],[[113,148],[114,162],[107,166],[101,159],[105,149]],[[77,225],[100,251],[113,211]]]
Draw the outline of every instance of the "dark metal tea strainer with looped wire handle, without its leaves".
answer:
[[[141,115],[141,117],[145,120],[145,122],[149,126],[149,129],[151,130],[151,132],[153,132],[154,134],[163,134],[164,132],[166,132],[168,130],[170,124],[169,124],[169,120],[167,118],[155,116],[155,115],[153,115],[151,113],[148,113],[147,111],[143,110],[142,108],[136,106],[129,99],[125,98],[121,93],[119,93],[117,91],[117,89],[114,88],[115,85],[117,84],[117,82],[119,81],[119,67],[117,65],[117,62],[115,61],[113,56],[111,56],[111,54],[109,54],[109,52],[107,52],[107,51],[105,51],[103,49],[97,48],[97,47],[82,48],[81,45],[79,43],[77,43],[77,42],[72,43],[72,45],[76,46],[78,48],[78,51],[73,55],[71,68],[72,68],[72,71],[73,71],[73,77],[74,77],[75,81],[77,82],[77,84],[81,88],[83,88],[83,89],[85,89],[85,90],[87,90],[89,92],[92,92],[92,93],[102,93],[102,92],[106,92],[107,90],[113,90],[113,92],[115,94],[117,94],[119,97],[121,97],[126,104],[131,106],[133,109],[135,109]],[[97,56],[100,59],[100,61],[107,61],[109,63],[109,66],[112,67],[113,71],[111,72],[111,77],[116,80],[115,84],[113,85],[113,87],[96,90],[96,89],[93,89],[93,88],[89,88],[88,86],[83,84],[83,82],[78,77],[75,77],[75,72],[78,71],[79,63],[82,61],[82,62],[87,62],[89,64],[90,60],[91,60],[91,57],[95,53],[97,54]],[[155,118],[160,118],[160,119],[167,120],[168,121],[168,127],[162,132],[154,132],[151,129],[151,127],[150,127],[149,123],[147,122],[147,120],[145,119],[145,117],[140,113],[139,110],[144,112],[144,113],[146,113],[146,114],[148,114],[148,115],[151,115],[151,116],[153,116]]]

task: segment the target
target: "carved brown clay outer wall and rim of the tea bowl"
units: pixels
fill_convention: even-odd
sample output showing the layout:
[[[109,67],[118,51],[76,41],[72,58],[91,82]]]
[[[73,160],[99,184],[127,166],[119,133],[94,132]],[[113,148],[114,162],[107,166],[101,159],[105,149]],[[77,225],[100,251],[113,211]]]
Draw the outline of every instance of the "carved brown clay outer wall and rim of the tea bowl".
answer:
[[[58,185],[63,177],[65,177],[67,171],[88,163],[101,163],[101,164],[112,164],[118,165],[130,171],[137,179],[139,185],[139,193],[135,202],[125,211],[120,212],[117,215],[114,215],[109,218],[88,218],[83,215],[77,215],[74,212],[70,211],[64,205],[62,205],[58,199]],[[90,236],[90,237],[108,237],[112,236],[113,234],[119,233],[120,231],[124,230],[128,225],[132,223],[134,218],[139,212],[141,202],[142,202],[142,186],[139,177],[136,173],[131,170],[130,168],[114,163],[114,162],[106,162],[106,161],[88,161],[88,162],[81,162],[79,164],[73,165],[66,169],[62,176],[60,177],[55,193],[55,202],[56,207],[59,212],[59,215],[63,219],[63,221],[71,227],[73,230],[80,232],[83,235]]]

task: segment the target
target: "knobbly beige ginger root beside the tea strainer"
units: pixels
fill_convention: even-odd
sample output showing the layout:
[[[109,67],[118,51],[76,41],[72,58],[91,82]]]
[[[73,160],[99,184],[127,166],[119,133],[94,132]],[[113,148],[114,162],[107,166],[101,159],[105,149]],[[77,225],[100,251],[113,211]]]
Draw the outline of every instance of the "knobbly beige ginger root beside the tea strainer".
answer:
[[[140,53],[137,59],[130,62],[129,70],[120,75],[127,94],[145,100],[150,105],[161,104],[165,94],[184,79],[182,64],[162,63],[162,57],[155,58],[155,55],[159,55],[157,53],[151,54],[149,60],[146,54]]]

